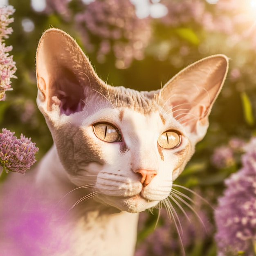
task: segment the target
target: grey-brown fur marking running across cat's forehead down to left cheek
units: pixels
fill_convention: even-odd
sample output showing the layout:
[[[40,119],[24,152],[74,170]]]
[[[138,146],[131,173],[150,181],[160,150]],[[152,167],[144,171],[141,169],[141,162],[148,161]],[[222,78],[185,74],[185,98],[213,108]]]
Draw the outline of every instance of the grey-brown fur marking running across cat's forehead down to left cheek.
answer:
[[[51,129],[58,155],[68,173],[74,174],[91,162],[101,165],[105,162],[100,146],[94,143],[83,127],[83,123],[90,118],[90,115],[97,115],[104,109],[117,109],[116,118],[122,121],[126,109],[142,115],[150,115],[152,112],[159,112],[160,109],[154,99],[154,92],[138,92],[124,87],[109,86],[105,95],[103,93],[102,90],[95,93],[88,99],[82,112],[69,116],[69,121],[61,125],[59,123],[57,127]],[[96,108],[95,104],[98,105]],[[90,106],[94,106],[91,111]],[[122,146],[124,147],[120,145]]]

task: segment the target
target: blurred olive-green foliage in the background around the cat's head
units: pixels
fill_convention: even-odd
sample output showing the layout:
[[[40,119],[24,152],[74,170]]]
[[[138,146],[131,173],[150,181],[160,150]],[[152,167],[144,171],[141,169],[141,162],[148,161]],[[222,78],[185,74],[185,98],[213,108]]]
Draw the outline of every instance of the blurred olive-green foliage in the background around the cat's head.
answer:
[[[225,0],[220,0],[222,1],[225,2]],[[175,1],[170,0],[170,2]],[[182,2],[180,1],[180,4]],[[184,5],[187,2],[184,0]],[[215,4],[208,4],[204,0],[201,2],[204,2],[205,11],[211,13],[213,17],[217,15],[221,17]],[[106,55],[105,62],[99,63],[97,52],[90,50],[89,45],[84,44],[85,35],[77,29],[75,23],[76,13],[87,8],[82,1],[72,0],[68,6],[66,4],[71,13],[69,18],[54,8],[50,11],[36,12],[31,8],[30,0],[22,0],[22,2],[9,0],[9,4],[14,6],[16,12],[14,13],[15,21],[12,23],[14,32],[6,43],[13,45],[11,54],[18,68],[16,72],[18,79],[13,79],[14,90],[7,92],[6,101],[1,102],[0,125],[15,131],[16,134],[23,133],[31,137],[39,147],[38,160],[52,145],[52,138],[43,115],[36,107],[36,47],[41,34],[46,29],[56,27],[73,36],[88,54],[97,74],[104,81],[108,81],[108,84],[123,85],[136,90],[159,89],[186,65],[211,54],[226,54],[230,58],[230,72],[222,93],[213,107],[208,133],[197,145],[196,153],[184,172],[175,181],[176,184],[198,191],[211,205],[216,205],[216,200],[224,188],[223,180],[240,168],[240,157],[237,157],[231,166],[217,168],[211,162],[214,149],[227,145],[233,137],[247,141],[255,133],[256,51],[249,46],[248,38],[233,42],[232,33],[223,32],[222,24],[218,31],[218,29],[206,29],[204,23],[196,19],[178,22],[175,25],[166,23],[161,18],[151,19],[152,37],[145,48],[144,58],[133,60],[126,69],[118,69],[113,52]],[[185,7],[184,11],[186,11]],[[186,13],[183,14],[186,15]],[[232,16],[225,15],[232,22]],[[22,26],[24,19],[33,22],[33,30],[24,31]],[[90,35],[90,33],[88,37],[91,44],[100,45],[101,38]],[[209,222],[213,223],[213,210],[207,205],[203,205],[202,208],[207,212]],[[155,215],[149,215],[148,219],[143,222],[145,225],[139,232],[139,245],[153,232],[157,221],[157,210],[155,211]],[[191,210],[188,209],[188,211]],[[160,217],[158,226],[163,225],[164,220]],[[181,247],[165,255],[181,255],[180,250]],[[206,236],[205,239],[196,240],[195,237],[194,243],[185,248],[185,251],[187,256],[216,255],[213,231],[211,236]]]

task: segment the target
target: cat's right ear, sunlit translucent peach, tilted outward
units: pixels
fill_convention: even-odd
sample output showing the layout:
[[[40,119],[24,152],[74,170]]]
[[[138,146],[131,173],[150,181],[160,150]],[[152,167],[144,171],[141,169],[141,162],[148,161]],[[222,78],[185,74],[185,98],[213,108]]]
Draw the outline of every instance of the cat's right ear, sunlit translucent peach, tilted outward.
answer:
[[[164,85],[159,100],[162,107],[201,140],[209,126],[208,116],[218,97],[228,70],[228,58],[218,54],[186,67]]]

